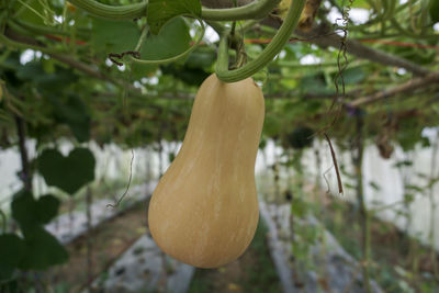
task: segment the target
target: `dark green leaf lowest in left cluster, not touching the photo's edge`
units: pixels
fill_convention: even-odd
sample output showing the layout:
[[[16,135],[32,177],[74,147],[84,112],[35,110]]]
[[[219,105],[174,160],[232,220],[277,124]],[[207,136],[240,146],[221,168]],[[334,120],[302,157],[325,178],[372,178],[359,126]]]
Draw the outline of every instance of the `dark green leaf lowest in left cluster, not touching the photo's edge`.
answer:
[[[23,270],[45,270],[68,260],[67,250],[42,227],[35,227],[24,237],[26,252],[19,264]]]

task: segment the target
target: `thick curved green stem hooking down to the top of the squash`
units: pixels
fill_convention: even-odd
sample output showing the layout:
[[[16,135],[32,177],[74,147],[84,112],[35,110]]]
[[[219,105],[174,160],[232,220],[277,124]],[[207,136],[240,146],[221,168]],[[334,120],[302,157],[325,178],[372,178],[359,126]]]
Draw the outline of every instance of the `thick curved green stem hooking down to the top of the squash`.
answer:
[[[255,75],[267,66],[274,56],[282,50],[283,46],[290,40],[293,30],[297,25],[304,4],[305,0],[294,0],[288,11],[285,21],[282,23],[282,26],[274,35],[271,43],[263,49],[257,59],[251,60],[238,69],[228,70],[228,37],[227,35],[223,35],[218,47],[218,57],[215,70],[216,76],[225,82],[236,82]]]

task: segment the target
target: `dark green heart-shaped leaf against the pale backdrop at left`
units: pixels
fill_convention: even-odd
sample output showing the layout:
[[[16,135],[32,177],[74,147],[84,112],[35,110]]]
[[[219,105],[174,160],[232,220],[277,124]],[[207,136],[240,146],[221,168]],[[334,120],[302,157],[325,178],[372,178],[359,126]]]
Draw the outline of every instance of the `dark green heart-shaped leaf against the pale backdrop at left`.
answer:
[[[57,149],[46,149],[38,158],[38,171],[48,185],[75,194],[94,180],[94,157],[88,148],[75,148],[68,157]]]

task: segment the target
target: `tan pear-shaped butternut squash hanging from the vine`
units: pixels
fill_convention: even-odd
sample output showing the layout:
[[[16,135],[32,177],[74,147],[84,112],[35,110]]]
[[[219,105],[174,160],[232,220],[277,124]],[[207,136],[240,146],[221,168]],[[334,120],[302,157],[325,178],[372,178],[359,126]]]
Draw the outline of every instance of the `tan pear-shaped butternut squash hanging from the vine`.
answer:
[[[216,268],[246,250],[259,218],[255,161],[263,115],[251,78],[224,83],[212,75],[202,83],[182,147],[149,204],[149,229],[166,253]]]

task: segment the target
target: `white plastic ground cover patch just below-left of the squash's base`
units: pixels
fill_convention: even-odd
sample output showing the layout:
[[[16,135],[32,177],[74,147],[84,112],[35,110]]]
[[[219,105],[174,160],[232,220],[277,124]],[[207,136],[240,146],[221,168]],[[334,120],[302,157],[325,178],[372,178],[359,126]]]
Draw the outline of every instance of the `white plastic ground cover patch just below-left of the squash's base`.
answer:
[[[194,267],[167,257],[146,234],[106,273],[94,280],[92,290],[105,293],[184,293],[194,270]]]

